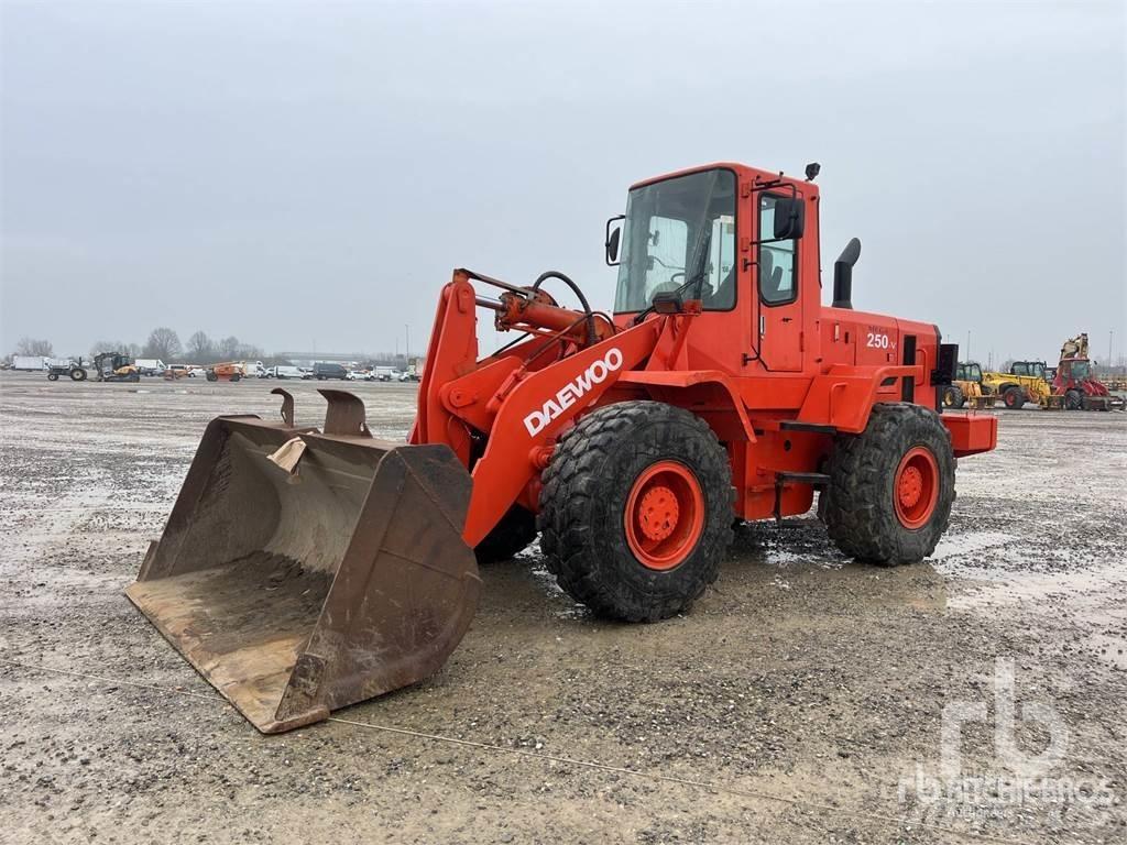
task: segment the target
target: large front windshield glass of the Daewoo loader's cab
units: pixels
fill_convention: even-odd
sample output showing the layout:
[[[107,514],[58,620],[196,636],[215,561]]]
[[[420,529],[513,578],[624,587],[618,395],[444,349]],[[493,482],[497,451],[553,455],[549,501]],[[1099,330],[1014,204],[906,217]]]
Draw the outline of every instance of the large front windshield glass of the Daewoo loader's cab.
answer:
[[[630,192],[614,311],[683,288],[707,310],[736,304],[736,175],[706,170]]]

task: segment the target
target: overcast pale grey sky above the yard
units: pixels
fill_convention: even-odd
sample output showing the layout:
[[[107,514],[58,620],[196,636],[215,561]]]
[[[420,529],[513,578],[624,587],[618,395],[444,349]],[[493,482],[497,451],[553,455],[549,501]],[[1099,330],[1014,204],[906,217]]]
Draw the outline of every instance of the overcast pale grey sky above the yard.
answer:
[[[627,186],[728,159],[822,162],[858,308],[1118,357],[1124,6],[6,3],[0,352],[418,350],[460,265],[609,309]]]

